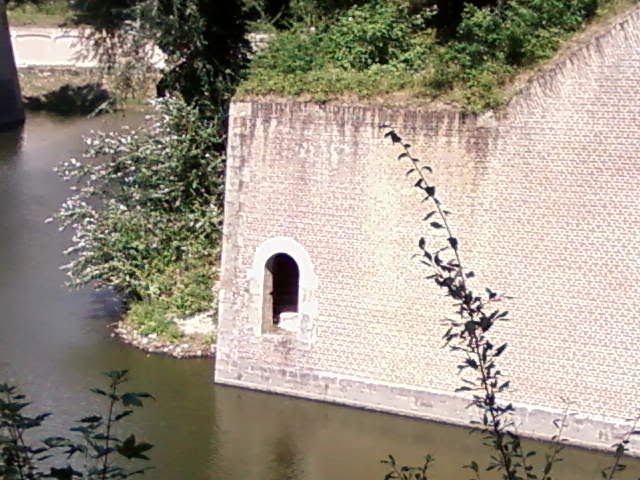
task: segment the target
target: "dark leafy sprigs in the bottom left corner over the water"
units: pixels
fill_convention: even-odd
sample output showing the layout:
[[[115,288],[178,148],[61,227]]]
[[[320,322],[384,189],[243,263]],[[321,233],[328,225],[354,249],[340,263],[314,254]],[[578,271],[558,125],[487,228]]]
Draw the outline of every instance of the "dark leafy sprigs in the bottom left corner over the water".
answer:
[[[38,480],[54,478],[73,480],[106,480],[129,478],[144,473],[146,468],[130,470],[119,465],[116,458],[149,460],[146,455],[153,445],[139,442],[134,435],[122,438],[117,427],[133,409],[143,406],[148,393],[121,393],[127,381],[127,371],[107,372],[105,390],[91,389],[106,400],[105,414],[92,414],[78,420],[69,429],[71,438],[48,437],[33,441],[35,430],[42,426],[49,413],[31,416],[30,403],[16,387],[0,384],[0,478],[4,480]]]

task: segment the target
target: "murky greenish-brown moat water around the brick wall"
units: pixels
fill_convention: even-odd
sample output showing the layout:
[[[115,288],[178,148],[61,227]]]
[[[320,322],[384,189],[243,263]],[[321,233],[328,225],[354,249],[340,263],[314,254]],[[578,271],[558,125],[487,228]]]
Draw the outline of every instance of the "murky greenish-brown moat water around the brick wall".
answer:
[[[379,460],[389,453],[412,464],[431,453],[434,479],[469,478],[461,465],[486,451],[464,429],[214,385],[210,360],[149,356],[110,337],[118,301],[64,287],[59,266],[70,233],[44,220],[68,194],[52,169],[80,155],[81,136],[140,121],[32,114],[23,130],[0,133],[0,382],[19,384],[39,411],[54,412],[46,433],[64,433],[100,408],[88,393],[100,372],[129,369],[130,388],[157,399],[130,422],[156,445],[145,478],[381,480]],[[540,456],[543,449],[537,445]],[[577,449],[564,458],[554,478],[600,478],[611,461]],[[637,478],[640,463],[628,463],[625,478]]]

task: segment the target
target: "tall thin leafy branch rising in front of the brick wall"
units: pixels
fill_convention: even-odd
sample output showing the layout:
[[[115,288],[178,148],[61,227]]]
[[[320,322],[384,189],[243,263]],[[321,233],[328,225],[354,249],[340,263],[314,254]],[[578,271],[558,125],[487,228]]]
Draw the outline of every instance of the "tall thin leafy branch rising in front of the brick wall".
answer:
[[[538,477],[529,462],[535,451],[525,449],[515,429],[513,405],[499,401],[500,395],[509,388],[509,380],[498,368],[498,359],[507,344],[495,345],[489,333],[498,322],[509,320],[509,312],[497,306],[508,297],[488,288],[483,294],[473,291],[469,280],[475,275],[465,269],[462,263],[460,240],[451,228],[450,212],[444,209],[436,186],[429,179],[432,168],[415,157],[411,153],[411,145],[404,142],[393,129],[389,126],[383,128],[387,130],[385,137],[401,147],[398,160],[406,160],[410,164],[407,176],[416,179],[414,186],[423,195],[423,202],[431,205],[423,220],[434,233],[434,238],[442,239],[444,234],[441,243],[436,241],[433,244],[425,237],[420,238],[419,257],[421,263],[430,270],[427,279],[444,289],[453,300],[456,316],[446,320],[448,329],[443,338],[445,345],[451,351],[462,354],[463,358],[458,365],[458,372],[462,375],[464,385],[456,391],[471,394],[471,405],[480,411],[480,421],[473,421],[472,425],[483,435],[485,444],[496,452],[490,456],[484,470],[499,471],[504,480],[550,480],[553,465],[560,461],[562,432],[556,437],[558,442],[552,444],[543,473]],[[558,426],[560,430],[565,418]],[[481,467],[476,461],[465,468],[470,469],[476,479],[480,479]]]

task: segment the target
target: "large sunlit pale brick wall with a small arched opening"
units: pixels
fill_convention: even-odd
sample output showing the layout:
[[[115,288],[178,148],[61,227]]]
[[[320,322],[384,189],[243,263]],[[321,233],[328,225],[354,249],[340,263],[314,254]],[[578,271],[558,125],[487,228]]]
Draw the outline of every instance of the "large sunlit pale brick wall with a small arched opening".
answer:
[[[567,437],[609,447],[639,405],[638,78],[636,8],[495,115],[234,103],[215,380],[469,420],[453,393],[459,359],[442,348],[450,302],[412,258],[420,236],[437,239],[383,138],[389,123],[433,167],[475,283],[514,297],[495,339],[509,344],[501,366],[521,432],[551,435],[566,399]],[[279,238],[283,253],[295,243],[308,255],[300,281],[315,279],[297,333],[261,329],[256,252]]]

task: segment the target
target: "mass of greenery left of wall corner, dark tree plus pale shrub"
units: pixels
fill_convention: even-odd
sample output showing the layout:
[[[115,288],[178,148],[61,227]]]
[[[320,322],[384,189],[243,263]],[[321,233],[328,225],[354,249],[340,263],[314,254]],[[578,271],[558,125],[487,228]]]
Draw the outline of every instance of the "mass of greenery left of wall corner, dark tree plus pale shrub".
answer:
[[[185,340],[178,319],[208,312],[220,253],[226,113],[249,44],[238,2],[72,2],[74,22],[89,25],[107,71],[145,73],[138,47],[165,54],[149,122],[96,133],[84,159],[59,172],[75,183],[57,218],[75,232],[66,253],[73,287],[95,285],[125,301],[125,322],[167,342]],[[201,318],[199,315],[197,318]],[[120,329],[121,330],[121,329]],[[200,340],[211,342],[214,334]],[[134,334],[135,336],[135,334]]]

